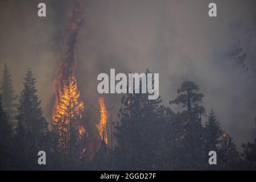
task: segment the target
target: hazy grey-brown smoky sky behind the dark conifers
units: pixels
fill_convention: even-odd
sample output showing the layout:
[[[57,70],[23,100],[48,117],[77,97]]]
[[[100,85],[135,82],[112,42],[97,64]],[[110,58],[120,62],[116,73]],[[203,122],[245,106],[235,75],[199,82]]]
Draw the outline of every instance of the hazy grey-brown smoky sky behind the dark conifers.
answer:
[[[39,18],[38,3],[47,6]],[[217,17],[208,16],[210,2]],[[255,1],[108,0],[84,1],[83,30],[78,37],[76,77],[85,109],[99,107],[97,75],[159,73],[159,92],[166,106],[181,82],[192,80],[205,95],[203,105],[216,112],[222,128],[237,147],[251,139],[256,116]],[[71,0],[0,2],[0,68],[6,62],[16,94],[23,89],[28,68],[36,78],[44,116],[51,118],[53,80],[61,59],[60,43],[67,26]],[[232,35],[241,40],[249,71],[243,73],[221,55],[230,50]],[[0,76],[2,80],[2,75]],[[118,94],[105,94],[114,119]],[[171,106],[177,110],[176,106]],[[204,118],[205,121],[205,118]]]

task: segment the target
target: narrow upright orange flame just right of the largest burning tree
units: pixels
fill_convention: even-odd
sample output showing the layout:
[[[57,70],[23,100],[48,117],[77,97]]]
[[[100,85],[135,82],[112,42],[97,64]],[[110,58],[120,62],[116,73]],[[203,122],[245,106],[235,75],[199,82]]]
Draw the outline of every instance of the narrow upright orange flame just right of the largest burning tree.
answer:
[[[108,144],[108,134],[106,131],[106,123],[108,121],[108,112],[104,104],[104,98],[100,97],[98,99],[98,102],[100,103],[100,107],[101,107],[101,121],[97,125],[97,129],[98,129],[98,132],[100,133],[101,140],[103,140],[105,144]]]

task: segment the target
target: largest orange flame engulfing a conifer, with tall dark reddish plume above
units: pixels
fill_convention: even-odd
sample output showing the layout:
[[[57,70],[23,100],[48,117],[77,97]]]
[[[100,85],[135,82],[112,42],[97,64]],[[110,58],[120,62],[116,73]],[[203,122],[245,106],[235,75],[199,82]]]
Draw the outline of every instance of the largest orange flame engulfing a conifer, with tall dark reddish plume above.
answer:
[[[69,14],[68,28],[64,31],[64,40],[61,44],[63,59],[60,61],[54,82],[56,97],[52,119],[59,135],[67,136],[67,139],[59,141],[62,148],[65,148],[69,140],[72,121],[82,118],[84,114],[84,102],[80,99],[75,77],[76,43],[82,27],[84,6],[81,0],[73,0],[73,4],[73,10]],[[84,127],[78,129],[78,132],[81,137],[85,133]]]

